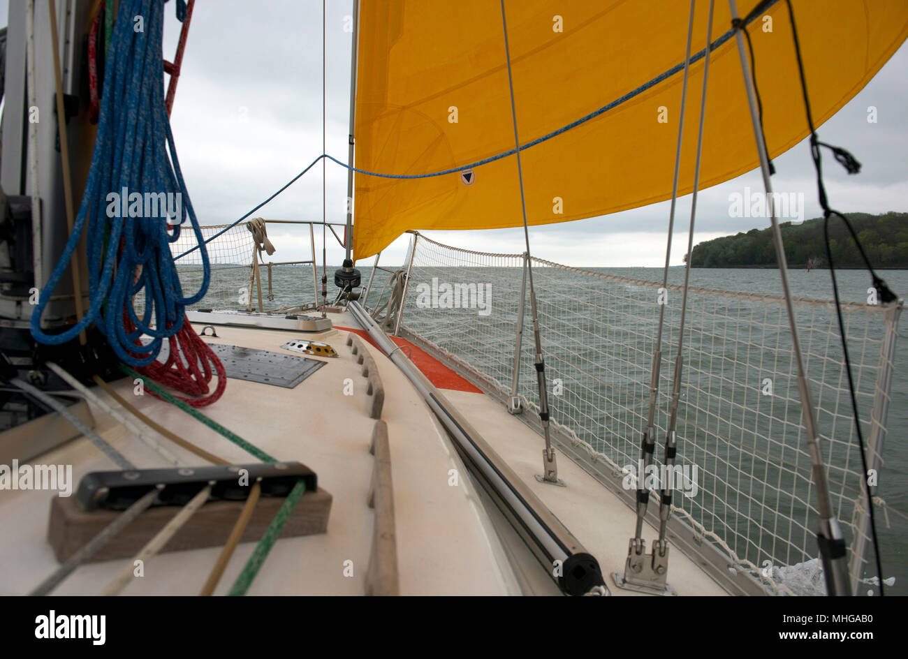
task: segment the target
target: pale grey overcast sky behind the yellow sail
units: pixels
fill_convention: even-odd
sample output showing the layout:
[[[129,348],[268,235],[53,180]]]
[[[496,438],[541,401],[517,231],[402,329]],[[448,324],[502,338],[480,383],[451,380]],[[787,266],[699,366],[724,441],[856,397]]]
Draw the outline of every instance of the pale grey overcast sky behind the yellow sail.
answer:
[[[0,0],[0,15],[7,3]],[[327,16],[327,152],[345,161],[350,103],[350,37],[343,31],[349,0],[329,0]],[[180,24],[166,5],[164,54],[171,58]],[[318,0],[198,0],[173,108],[173,133],[192,204],[203,224],[242,216],[321,153],[321,2]],[[864,164],[849,177],[824,152],[827,192],[841,211],[905,211],[908,199],[908,48],[902,47],[864,90],[819,129]],[[877,108],[877,123],[867,108]],[[800,108],[800,106],[799,106]],[[707,117],[708,120],[708,117]],[[813,165],[806,143],[775,160],[777,192],[804,192],[805,218],[819,215]],[[327,215],[343,221],[346,171],[328,162]],[[762,191],[758,171],[701,191],[695,243],[768,225],[730,218],[729,194]],[[690,197],[676,211],[672,263],[686,249]],[[321,219],[321,164],[256,213],[268,219]],[[530,227],[535,255],[584,266],[661,266],[668,202],[585,221]],[[273,225],[272,225],[273,226]],[[269,230],[274,260],[304,258],[308,231]],[[429,231],[435,240],[482,251],[523,251],[523,230]],[[342,251],[329,234],[329,264]],[[317,237],[321,252],[321,235]],[[400,263],[407,240],[382,255]],[[319,254],[321,261],[321,253]],[[370,263],[371,259],[365,261]]]

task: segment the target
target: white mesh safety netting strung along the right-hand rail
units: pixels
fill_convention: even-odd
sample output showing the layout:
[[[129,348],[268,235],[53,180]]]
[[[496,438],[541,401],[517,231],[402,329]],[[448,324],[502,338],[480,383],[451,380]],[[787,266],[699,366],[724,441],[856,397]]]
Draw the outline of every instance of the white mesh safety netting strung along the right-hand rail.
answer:
[[[403,325],[509,395],[523,261],[519,254],[464,251],[419,236]],[[653,281],[535,258],[533,278],[553,421],[610,465],[603,468],[633,473],[661,293],[666,315],[655,423],[661,464],[681,287],[660,290]],[[834,511],[851,554],[857,539],[867,548],[870,542],[834,304],[794,303]],[[676,493],[675,514],[771,590],[791,592],[773,575],[815,558],[818,525],[785,300],[691,288],[687,304],[677,464],[691,482]],[[874,415],[889,396],[882,376],[893,365],[883,345],[897,315],[858,303],[844,303],[843,313],[864,438],[882,440],[885,418]],[[538,411],[532,345],[527,301],[518,394]],[[869,451],[867,457],[873,464]],[[658,505],[657,497],[650,500]],[[849,559],[854,566],[854,556]],[[861,551],[857,564],[863,560]]]

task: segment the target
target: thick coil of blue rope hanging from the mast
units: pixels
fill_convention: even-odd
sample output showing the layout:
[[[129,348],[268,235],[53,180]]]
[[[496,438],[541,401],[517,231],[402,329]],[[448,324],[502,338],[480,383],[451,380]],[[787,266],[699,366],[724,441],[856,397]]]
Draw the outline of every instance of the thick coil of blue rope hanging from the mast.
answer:
[[[133,367],[147,366],[157,358],[162,339],[181,329],[186,305],[202,300],[211,279],[208,252],[183,182],[164,103],[165,1],[123,0],[120,4],[82,203],[31,320],[35,340],[49,345],[70,341],[94,323],[117,356]],[[141,32],[136,31],[139,17]],[[117,200],[112,193],[122,196],[124,190],[127,195],[142,195],[140,216],[123,217],[123,201],[114,203]],[[162,192],[164,199],[172,194],[174,202],[180,200],[172,227],[168,225],[166,210],[159,208],[154,217],[143,216],[146,195]],[[128,211],[128,197],[126,206]],[[202,248],[203,274],[199,290],[183,296],[170,243],[179,239],[180,225],[187,217]],[[73,327],[60,334],[47,334],[41,330],[41,316],[64,276],[86,223],[89,308]],[[133,282],[137,271],[138,279]],[[133,296],[139,294],[144,296],[141,319],[133,309]],[[133,323],[132,331],[126,329],[124,311]],[[136,345],[135,340],[143,335],[152,337],[152,341],[145,346]]]

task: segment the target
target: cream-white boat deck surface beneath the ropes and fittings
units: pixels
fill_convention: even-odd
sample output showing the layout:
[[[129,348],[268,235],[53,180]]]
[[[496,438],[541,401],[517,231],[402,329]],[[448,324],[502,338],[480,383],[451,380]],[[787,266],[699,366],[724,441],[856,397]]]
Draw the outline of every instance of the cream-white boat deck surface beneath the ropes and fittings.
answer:
[[[355,326],[349,316],[335,320],[339,325]],[[219,327],[217,331],[217,339],[206,340],[276,352],[287,340],[302,338],[296,332],[277,330]],[[347,334],[329,330],[307,337],[330,343],[340,357],[313,358],[328,364],[296,388],[231,379],[221,400],[202,409],[272,456],[305,463],[318,474],[320,486],[333,496],[328,533],[278,541],[252,583],[250,595],[363,593],[373,526],[366,499],[374,459],[369,453],[374,421],[368,416],[366,379],[360,376],[360,367],[345,345]],[[389,429],[401,594],[519,594],[515,573],[537,568],[526,561],[511,566],[507,556],[514,556],[513,547],[502,546],[469,478],[461,477],[458,487],[449,486],[449,470],[457,469],[459,474],[465,470],[438,421],[400,370],[378,349],[370,345],[367,349],[376,359],[386,391],[382,418]],[[353,396],[343,395],[347,378],[354,382]],[[116,389],[163,426],[202,448],[237,463],[255,461],[183,411],[148,395],[133,396],[131,382],[120,380]],[[604,575],[624,569],[627,538],[635,518],[625,504],[564,456],[559,457],[559,475],[568,487],[539,484],[533,477],[541,462],[538,435],[483,394],[444,393],[597,556]],[[113,418],[97,408],[94,415],[100,434],[137,467],[164,465],[160,456],[130,437]],[[161,442],[181,458],[181,464],[200,464],[200,458],[166,439],[161,438]],[[116,468],[85,438],[75,439],[36,461],[73,464],[76,484],[89,471]],[[5,529],[5,541],[0,543],[0,594],[25,594],[57,566],[45,539],[54,496],[54,492],[46,491],[0,492],[0,527]],[[646,537],[652,536],[654,532],[649,529]],[[229,590],[253,547],[254,543],[246,543],[237,548],[215,595]],[[195,595],[219,552],[220,548],[212,547],[155,556],[145,566],[143,578],[135,578],[123,594]],[[352,577],[343,575],[347,560],[353,561]],[[97,594],[122,566],[121,560],[82,566],[54,594]],[[541,574],[541,568],[538,570]],[[681,595],[725,594],[679,552],[671,556],[669,581]],[[610,577],[607,582],[613,595],[629,594],[615,588]]]

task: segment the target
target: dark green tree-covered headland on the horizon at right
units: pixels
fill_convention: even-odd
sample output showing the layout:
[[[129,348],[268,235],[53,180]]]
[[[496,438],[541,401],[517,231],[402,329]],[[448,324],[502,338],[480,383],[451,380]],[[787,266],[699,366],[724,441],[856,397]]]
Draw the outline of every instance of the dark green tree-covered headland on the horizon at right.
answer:
[[[908,270],[908,213],[890,211],[882,215],[845,213],[854,226],[867,258],[874,268]],[[768,221],[767,221],[768,223]],[[823,218],[802,224],[782,222],[782,240],[789,268],[828,268]],[[864,261],[851,234],[837,218],[829,220],[829,245],[836,269],[864,268]],[[772,232],[751,229],[696,245],[691,254],[694,268],[775,268]]]

